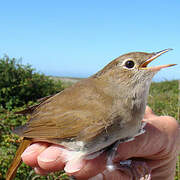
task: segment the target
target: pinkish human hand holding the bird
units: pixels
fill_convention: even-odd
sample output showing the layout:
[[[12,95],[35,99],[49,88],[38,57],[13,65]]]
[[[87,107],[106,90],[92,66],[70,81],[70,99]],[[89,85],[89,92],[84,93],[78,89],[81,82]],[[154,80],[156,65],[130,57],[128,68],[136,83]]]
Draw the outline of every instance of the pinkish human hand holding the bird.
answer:
[[[180,126],[170,116],[157,116],[147,106],[143,121],[146,133],[135,140],[121,143],[114,162],[130,158],[143,159],[151,169],[153,180],[173,180],[176,160],[180,152]],[[129,180],[123,170],[106,169],[106,153],[91,160],[71,160],[72,152],[58,145],[44,142],[34,143],[22,154],[22,160],[33,167],[37,174],[65,169],[69,175],[78,180],[94,178],[96,180],[114,179]]]

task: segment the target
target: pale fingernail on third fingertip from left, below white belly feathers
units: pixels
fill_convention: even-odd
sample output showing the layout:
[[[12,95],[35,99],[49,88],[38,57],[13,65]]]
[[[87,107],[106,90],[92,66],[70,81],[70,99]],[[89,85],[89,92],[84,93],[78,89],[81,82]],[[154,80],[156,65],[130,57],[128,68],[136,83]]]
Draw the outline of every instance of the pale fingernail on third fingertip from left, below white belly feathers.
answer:
[[[65,172],[67,173],[74,173],[74,172],[77,172],[79,170],[81,170],[84,166],[84,162],[83,160],[70,160],[66,163],[66,166],[64,168]]]

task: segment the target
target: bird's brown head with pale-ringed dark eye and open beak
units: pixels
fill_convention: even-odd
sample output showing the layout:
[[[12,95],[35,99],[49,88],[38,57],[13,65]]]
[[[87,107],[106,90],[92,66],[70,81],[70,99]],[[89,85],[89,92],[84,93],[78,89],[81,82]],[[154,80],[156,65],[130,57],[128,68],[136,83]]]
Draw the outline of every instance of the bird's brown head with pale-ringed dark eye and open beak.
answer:
[[[119,56],[111,61],[96,75],[106,77],[111,81],[115,80],[121,84],[137,84],[151,81],[153,76],[161,69],[176,64],[148,67],[147,65],[160,55],[172,49],[165,49],[156,53],[131,52]]]

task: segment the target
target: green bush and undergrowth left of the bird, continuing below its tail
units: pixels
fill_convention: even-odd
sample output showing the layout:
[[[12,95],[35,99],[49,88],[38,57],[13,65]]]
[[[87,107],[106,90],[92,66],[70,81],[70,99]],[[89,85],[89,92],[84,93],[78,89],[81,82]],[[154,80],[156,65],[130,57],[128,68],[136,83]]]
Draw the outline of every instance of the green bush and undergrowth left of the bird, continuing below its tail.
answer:
[[[39,98],[55,94],[63,90],[61,81],[54,81],[35,71],[30,65],[23,65],[15,58],[4,56],[0,59],[0,179],[5,174],[12,161],[20,139],[12,134],[12,129],[25,124],[26,116],[14,114],[27,104],[34,104]],[[67,176],[62,172],[51,174],[48,179]],[[47,179],[35,175],[34,171],[22,164],[18,169],[18,179]]]

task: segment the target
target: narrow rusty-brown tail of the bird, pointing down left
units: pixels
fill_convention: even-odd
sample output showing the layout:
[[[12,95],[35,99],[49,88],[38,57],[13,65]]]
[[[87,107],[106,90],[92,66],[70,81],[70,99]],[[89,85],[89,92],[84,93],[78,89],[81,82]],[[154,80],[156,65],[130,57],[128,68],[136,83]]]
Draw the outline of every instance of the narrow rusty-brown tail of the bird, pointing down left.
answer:
[[[32,143],[32,140],[30,139],[23,139],[18,150],[16,151],[16,155],[8,169],[8,172],[6,174],[6,180],[13,180],[16,176],[16,172],[18,167],[21,165],[21,155],[24,152],[24,150]]]

